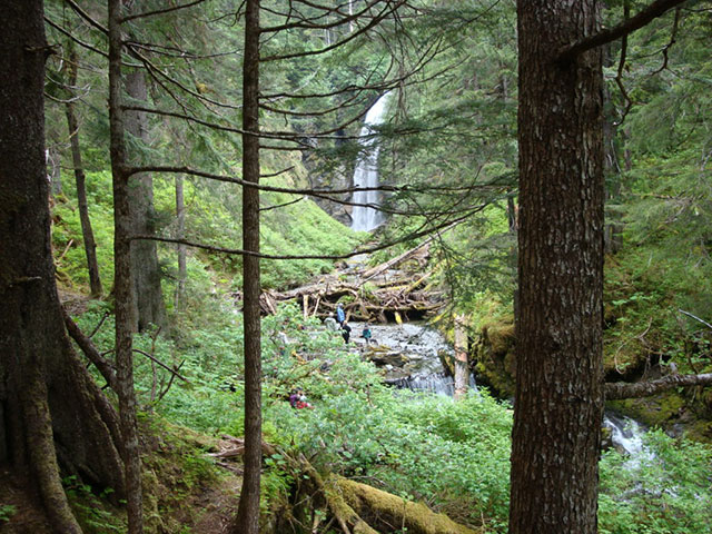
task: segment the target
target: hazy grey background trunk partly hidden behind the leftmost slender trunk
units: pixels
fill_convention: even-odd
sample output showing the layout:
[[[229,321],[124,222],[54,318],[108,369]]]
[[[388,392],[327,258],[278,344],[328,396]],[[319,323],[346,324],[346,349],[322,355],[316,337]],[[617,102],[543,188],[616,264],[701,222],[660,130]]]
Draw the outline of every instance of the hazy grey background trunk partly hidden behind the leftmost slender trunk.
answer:
[[[130,72],[125,79],[129,96],[141,102],[148,100],[146,77],[142,71]],[[126,131],[148,145],[148,118],[144,111],[125,113]],[[138,161],[135,155],[131,158]],[[132,235],[155,234],[154,178],[149,172],[134,175],[129,179],[129,207],[131,210],[129,231]],[[134,291],[135,328],[144,332],[150,325],[166,328],[166,306],[160,287],[160,268],[156,241],[149,239],[131,241],[131,289]]]

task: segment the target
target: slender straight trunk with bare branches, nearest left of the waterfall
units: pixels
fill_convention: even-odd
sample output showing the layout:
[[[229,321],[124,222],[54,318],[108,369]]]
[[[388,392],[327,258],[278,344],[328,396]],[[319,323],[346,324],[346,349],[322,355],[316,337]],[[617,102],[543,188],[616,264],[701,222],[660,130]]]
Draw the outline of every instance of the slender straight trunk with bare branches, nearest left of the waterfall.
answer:
[[[243,178],[259,182],[259,0],[247,0],[243,63]],[[243,248],[259,253],[259,189],[243,188]],[[261,468],[259,258],[243,256],[245,328],[245,475],[233,532],[258,534]]]

